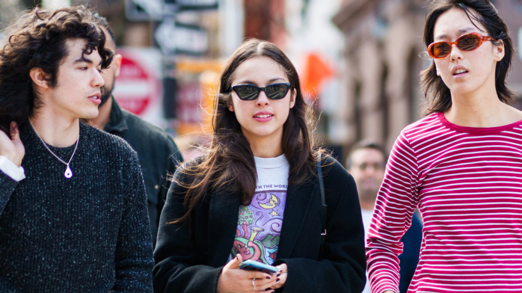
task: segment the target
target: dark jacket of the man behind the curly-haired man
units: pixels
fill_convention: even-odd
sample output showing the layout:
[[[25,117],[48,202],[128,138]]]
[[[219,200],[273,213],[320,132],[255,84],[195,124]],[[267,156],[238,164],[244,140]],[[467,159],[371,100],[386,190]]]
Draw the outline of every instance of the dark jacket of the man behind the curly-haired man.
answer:
[[[174,174],[177,162],[182,162],[183,157],[165,131],[131,113],[122,111],[114,97],[111,120],[103,130],[123,138],[138,153],[147,192],[150,233],[152,243],[155,245],[161,210],[170,186],[167,173]]]

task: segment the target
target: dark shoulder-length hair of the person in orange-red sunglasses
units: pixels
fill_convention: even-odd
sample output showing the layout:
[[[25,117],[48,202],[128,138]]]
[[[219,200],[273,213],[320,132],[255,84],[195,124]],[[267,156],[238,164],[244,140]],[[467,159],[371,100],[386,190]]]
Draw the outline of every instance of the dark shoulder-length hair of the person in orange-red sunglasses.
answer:
[[[494,45],[504,43],[504,58],[496,64],[495,68],[495,88],[502,102],[511,102],[514,98],[514,94],[506,86],[506,77],[514,53],[513,41],[507,35],[506,23],[500,18],[495,6],[493,6],[489,0],[433,1],[428,8],[426,23],[424,25],[424,44],[428,47],[433,43],[433,29],[438,17],[454,8],[464,10],[474,25],[476,22],[481,23],[488,35],[495,39],[492,41]],[[473,11],[470,11],[471,9]],[[444,112],[452,106],[450,91],[448,87],[446,87],[446,84],[444,84],[444,81],[442,81],[442,78],[437,76],[434,63],[432,63],[428,69],[421,71],[420,79],[426,98],[426,106],[423,109],[424,115]]]

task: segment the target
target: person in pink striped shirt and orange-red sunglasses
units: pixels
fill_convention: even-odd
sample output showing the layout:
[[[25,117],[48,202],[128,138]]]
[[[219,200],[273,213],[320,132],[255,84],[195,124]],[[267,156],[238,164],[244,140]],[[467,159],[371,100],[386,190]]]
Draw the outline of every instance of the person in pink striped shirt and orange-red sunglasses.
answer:
[[[421,72],[426,116],[402,130],[377,196],[366,255],[372,292],[398,293],[401,236],[424,226],[408,292],[522,288],[522,112],[509,106],[514,53],[487,0],[432,2]]]

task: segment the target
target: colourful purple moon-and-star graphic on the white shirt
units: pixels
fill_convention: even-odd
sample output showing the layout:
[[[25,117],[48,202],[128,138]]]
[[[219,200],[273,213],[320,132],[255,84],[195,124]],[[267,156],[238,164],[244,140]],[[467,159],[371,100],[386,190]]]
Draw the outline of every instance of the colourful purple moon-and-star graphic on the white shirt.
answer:
[[[243,261],[274,263],[286,197],[286,190],[257,191],[250,205],[240,206],[231,259],[241,254]]]

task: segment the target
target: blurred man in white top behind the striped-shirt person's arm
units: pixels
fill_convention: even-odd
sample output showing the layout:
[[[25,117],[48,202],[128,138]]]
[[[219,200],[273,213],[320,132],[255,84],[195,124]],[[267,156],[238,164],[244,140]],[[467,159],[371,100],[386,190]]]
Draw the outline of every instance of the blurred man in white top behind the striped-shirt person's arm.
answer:
[[[371,141],[360,141],[353,146],[346,163],[348,172],[357,184],[359,202],[361,203],[364,235],[367,238],[375,199],[384,179],[386,155],[381,145]],[[404,244],[399,255],[400,266],[400,293],[406,293],[411,278],[419,262],[419,252],[422,242],[422,223],[417,214],[411,219],[411,226],[400,239]],[[370,284],[366,283],[363,293],[370,293]]]

